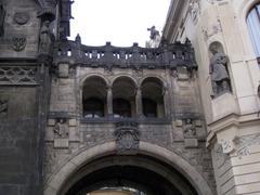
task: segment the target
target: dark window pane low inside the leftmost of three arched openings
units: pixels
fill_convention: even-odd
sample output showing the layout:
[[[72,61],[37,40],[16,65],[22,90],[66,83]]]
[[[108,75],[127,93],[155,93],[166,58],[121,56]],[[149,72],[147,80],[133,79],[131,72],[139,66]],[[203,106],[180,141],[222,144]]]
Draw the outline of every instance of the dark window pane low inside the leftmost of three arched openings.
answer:
[[[83,116],[86,118],[104,117],[104,103],[95,98],[83,101]]]

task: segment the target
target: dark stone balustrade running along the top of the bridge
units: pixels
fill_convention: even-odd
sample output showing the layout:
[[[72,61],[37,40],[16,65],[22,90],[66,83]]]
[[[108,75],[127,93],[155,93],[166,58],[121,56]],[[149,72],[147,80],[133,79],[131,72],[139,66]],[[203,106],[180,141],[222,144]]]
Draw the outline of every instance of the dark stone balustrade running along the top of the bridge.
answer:
[[[81,44],[80,40],[57,41],[54,49],[54,63],[70,62],[90,67],[105,68],[177,68],[185,66],[196,69],[194,50],[187,41],[182,44],[162,44],[159,48],[141,48],[133,43],[129,48],[114,47],[106,42],[102,47]]]

